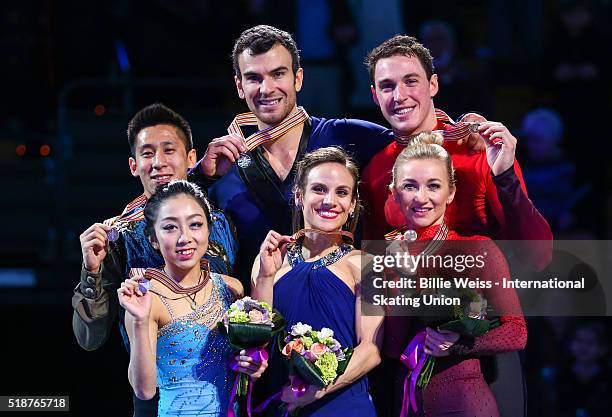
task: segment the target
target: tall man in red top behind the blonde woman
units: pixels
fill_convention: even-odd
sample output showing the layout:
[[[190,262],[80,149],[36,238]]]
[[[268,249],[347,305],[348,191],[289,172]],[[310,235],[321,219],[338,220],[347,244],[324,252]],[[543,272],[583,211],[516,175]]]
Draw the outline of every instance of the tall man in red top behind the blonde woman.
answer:
[[[429,50],[413,37],[398,35],[383,42],[370,52],[366,64],[374,102],[391,124],[396,141],[375,155],[362,174],[364,238],[382,239],[403,226],[399,205],[388,189],[391,168],[411,137],[438,130],[447,139],[444,147],[451,154],[457,178],[455,200],[447,210],[449,227],[463,235],[539,241],[519,246],[516,255],[537,270],[548,265],[552,255],[550,226],[527,198],[514,158],[516,138],[508,129],[484,118],[473,126],[458,126],[435,109],[438,77],[433,60]],[[472,115],[471,120],[475,119]],[[457,140],[469,127],[484,139],[486,152],[474,153]]]

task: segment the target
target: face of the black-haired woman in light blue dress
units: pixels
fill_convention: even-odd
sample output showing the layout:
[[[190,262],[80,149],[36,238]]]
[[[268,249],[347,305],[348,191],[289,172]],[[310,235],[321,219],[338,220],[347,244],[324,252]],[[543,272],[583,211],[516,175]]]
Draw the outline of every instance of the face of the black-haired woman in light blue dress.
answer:
[[[163,201],[153,226],[151,244],[159,250],[171,274],[200,268],[208,248],[204,209],[191,196],[179,194]]]

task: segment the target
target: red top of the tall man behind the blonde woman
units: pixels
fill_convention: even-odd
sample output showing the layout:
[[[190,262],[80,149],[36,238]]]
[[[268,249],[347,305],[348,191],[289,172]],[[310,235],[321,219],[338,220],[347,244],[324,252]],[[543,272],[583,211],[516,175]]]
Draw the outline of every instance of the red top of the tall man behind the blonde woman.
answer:
[[[434,130],[449,128],[451,125],[438,121]],[[364,239],[382,239],[405,223],[389,191],[393,164],[404,148],[397,142],[389,144],[363,170],[360,189],[365,207]],[[451,155],[457,180],[455,199],[446,210],[448,226],[466,236],[524,241],[521,243],[526,247],[517,250],[517,256],[537,270],[548,265],[552,232],[527,197],[518,162],[494,177],[485,152],[470,155],[465,146],[450,141],[444,143],[444,148]]]

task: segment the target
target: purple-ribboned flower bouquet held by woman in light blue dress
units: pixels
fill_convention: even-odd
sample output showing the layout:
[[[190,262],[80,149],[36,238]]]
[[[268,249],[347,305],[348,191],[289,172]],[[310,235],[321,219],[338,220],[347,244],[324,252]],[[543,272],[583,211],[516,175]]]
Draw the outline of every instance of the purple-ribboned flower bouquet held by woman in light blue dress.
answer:
[[[223,319],[217,323],[219,332],[226,336],[230,345],[236,350],[246,350],[246,355],[256,361],[267,360],[268,352],[265,346],[272,338],[285,328],[283,316],[272,309],[272,306],[264,301],[257,301],[250,297],[244,297],[230,305],[229,310],[223,315]],[[232,358],[230,367],[236,371],[237,361]],[[230,398],[230,409],[236,396],[249,396],[247,407],[250,408],[250,396],[252,386],[249,384],[249,376],[238,373],[234,381]],[[233,410],[228,415],[233,415]],[[247,411],[250,415],[250,409]]]

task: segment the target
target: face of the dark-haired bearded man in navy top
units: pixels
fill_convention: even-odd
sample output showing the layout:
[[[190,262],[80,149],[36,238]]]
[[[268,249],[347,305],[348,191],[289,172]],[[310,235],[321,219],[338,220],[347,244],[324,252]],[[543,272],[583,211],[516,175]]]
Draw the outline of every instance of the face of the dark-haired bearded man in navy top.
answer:
[[[246,100],[260,121],[260,128],[276,126],[296,109],[297,92],[302,88],[302,69],[294,75],[291,54],[276,44],[267,52],[239,58],[240,78],[234,77],[238,96]]]

